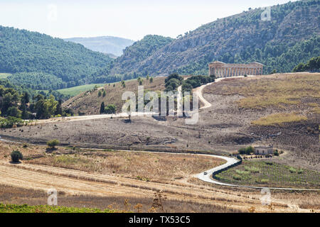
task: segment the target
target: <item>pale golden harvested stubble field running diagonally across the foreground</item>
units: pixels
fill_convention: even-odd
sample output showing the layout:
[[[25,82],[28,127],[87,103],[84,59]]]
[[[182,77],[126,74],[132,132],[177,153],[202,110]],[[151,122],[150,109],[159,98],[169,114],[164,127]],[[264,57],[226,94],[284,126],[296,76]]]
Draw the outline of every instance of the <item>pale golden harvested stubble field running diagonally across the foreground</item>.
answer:
[[[239,194],[228,189],[211,189],[210,187],[197,185],[142,182],[136,179],[88,174],[78,170],[42,165],[12,165],[8,162],[1,162],[0,184],[10,187],[21,187],[23,185],[24,189],[33,190],[55,188],[60,194],[66,196],[107,196],[119,197],[119,199],[126,198],[129,201],[139,201],[139,199],[146,201],[146,198],[150,198],[151,201],[154,193],[160,192],[163,194],[164,200],[171,201],[171,203],[172,201],[178,203],[181,201],[187,204],[191,203],[190,205],[201,204],[211,207],[211,210],[205,210],[209,212],[222,209],[225,211],[250,211],[252,207],[257,212],[294,211],[292,203],[288,206],[287,201],[277,200],[270,207],[262,206],[257,192]],[[4,199],[1,200],[4,201]],[[8,198],[6,201],[8,201]],[[144,204],[146,203],[144,202]],[[105,204],[105,206],[109,205]],[[194,206],[190,207],[194,210],[189,211],[197,211]],[[299,211],[309,212],[310,209],[299,209]]]

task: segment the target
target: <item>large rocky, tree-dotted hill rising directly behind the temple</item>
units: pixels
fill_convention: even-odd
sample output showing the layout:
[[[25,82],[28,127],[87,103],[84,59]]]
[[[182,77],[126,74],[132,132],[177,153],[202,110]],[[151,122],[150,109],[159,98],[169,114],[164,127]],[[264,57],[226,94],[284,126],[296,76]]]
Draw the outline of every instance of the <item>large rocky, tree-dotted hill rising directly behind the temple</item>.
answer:
[[[221,18],[172,40],[149,56],[124,57],[127,55],[124,52],[117,64],[126,73],[207,74],[208,63],[214,60],[230,63],[256,61],[266,65],[266,73],[274,69],[292,72],[299,62],[320,55],[317,36],[320,35],[319,2],[294,1],[272,6],[271,21],[261,20],[265,9],[252,9]],[[119,72],[119,68],[114,67],[112,73]]]

